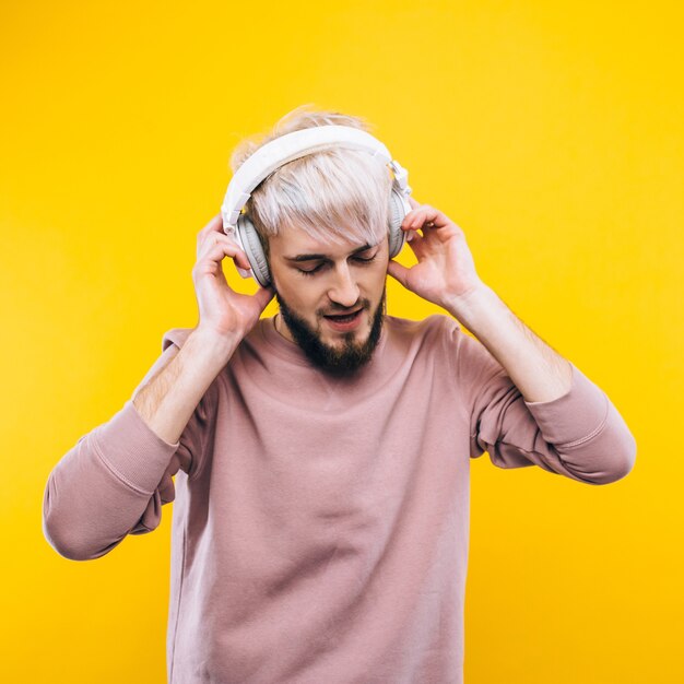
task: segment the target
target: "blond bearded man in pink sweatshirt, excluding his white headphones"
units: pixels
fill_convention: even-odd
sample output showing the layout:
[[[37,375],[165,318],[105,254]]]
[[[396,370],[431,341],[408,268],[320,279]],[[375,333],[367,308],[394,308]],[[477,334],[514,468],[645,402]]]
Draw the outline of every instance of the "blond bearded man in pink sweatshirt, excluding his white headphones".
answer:
[[[273,138],[361,128],[287,123]],[[68,558],[154,530],[175,500],[170,682],[461,682],[470,459],[589,484],[634,465],[612,402],[479,278],[448,216],[410,200],[417,263],[390,258],[391,179],[364,154],[307,154],[255,189],[255,295],[223,275],[226,257],[255,263],[221,215],[199,233],[198,325],[164,335],[50,473],[44,530]],[[387,316],[388,273],[448,316]]]

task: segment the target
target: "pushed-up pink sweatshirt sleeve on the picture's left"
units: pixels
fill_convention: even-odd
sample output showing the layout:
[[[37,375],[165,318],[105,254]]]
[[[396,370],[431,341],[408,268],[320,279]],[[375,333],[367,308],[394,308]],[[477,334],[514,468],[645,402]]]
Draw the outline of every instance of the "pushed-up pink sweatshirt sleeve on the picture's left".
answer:
[[[145,379],[178,353],[181,343],[172,344],[167,335]],[[98,558],[127,534],[158,527],[162,506],[175,498],[173,475],[180,469],[191,474],[197,468],[211,415],[210,390],[176,444],[148,426],[132,397],[108,422],[78,440],[45,487],[43,532],[55,551],[72,561]]]

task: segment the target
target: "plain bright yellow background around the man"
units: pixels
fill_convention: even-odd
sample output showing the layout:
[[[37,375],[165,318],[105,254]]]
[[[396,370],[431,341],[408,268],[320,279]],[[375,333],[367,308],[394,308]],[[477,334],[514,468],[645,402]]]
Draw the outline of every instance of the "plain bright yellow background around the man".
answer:
[[[76,563],[43,536],[45,483],[196,325],[196,235],[234,145],[314,103],[376,125],[638,443],[606,486],[472,462],[467,683],[684,681],[681,7],[5,3],[2,680],[165,681],[173,506]],[[388,310],[441,311],[392,279]]]

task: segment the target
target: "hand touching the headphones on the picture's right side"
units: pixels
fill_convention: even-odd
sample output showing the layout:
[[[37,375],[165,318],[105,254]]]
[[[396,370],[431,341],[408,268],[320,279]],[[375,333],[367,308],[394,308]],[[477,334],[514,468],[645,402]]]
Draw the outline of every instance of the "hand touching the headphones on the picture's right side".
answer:
[[[465,234],[448,216],[412,197],[413,208],[404,217],[402,231],[411,231],[409,246],[418,262],[406,268],[390,260],[387,272],[406,290],[451,310],[453,304],[484,286],[465,241]],[[421,233],[417,233],[421,231]]]

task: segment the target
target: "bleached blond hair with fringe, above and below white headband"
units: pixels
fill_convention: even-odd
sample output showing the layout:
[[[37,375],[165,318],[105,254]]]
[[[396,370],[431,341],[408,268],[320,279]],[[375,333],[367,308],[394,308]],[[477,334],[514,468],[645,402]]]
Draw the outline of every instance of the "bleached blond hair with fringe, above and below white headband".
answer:
[[[333,125],[372,132],[362,117],[302,105],[283,116],[269,133],[238,143],[231,168],[235,173],[261,145],[280,135]],[[276,168],[252,190],[245,212],[267,256],[269,238],[283,227],[300,228],[320,241],[375,245],[387,237],[391,187],[389,167],[368,152],[332,146]]]

